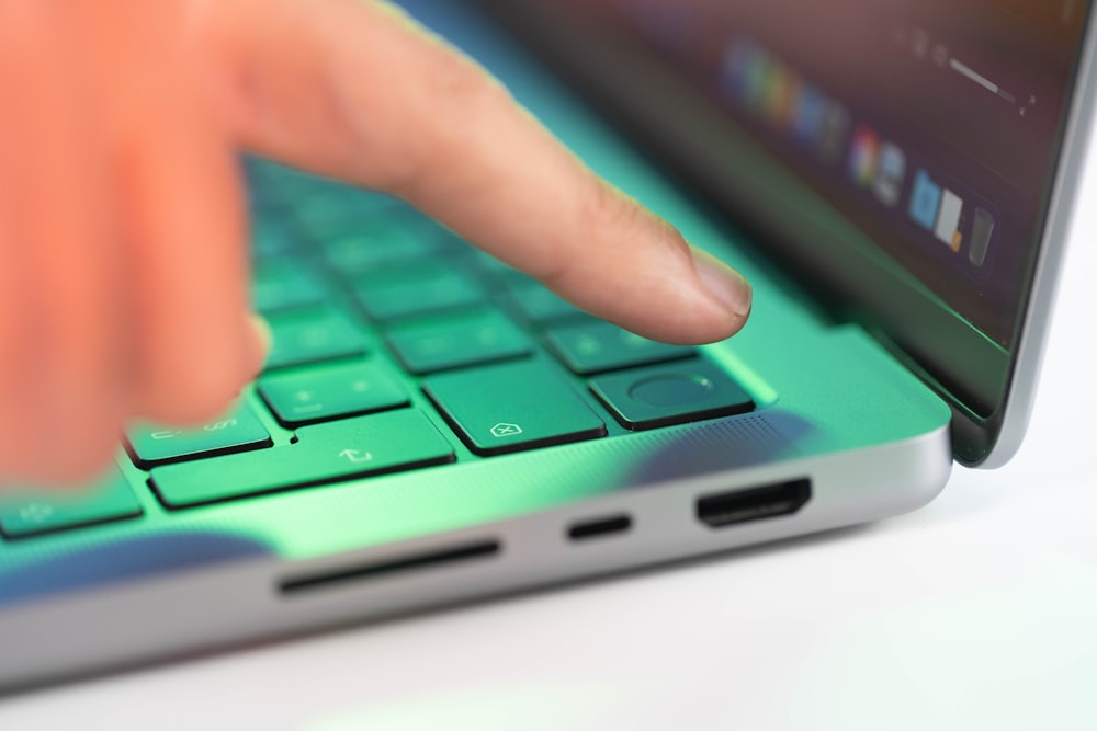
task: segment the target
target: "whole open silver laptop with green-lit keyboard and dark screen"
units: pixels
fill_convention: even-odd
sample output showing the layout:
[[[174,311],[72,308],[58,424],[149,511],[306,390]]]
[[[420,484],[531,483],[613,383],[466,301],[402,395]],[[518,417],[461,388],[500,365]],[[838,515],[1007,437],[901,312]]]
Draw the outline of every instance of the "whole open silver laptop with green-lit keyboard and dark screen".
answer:
[[[646,341],[247,159],[267,368],[201,429],[135,424],[76,495],[3,492],[0,688],[882,519],[1019,445],[1088,2],[405,4],[743,271],[750,322]]]

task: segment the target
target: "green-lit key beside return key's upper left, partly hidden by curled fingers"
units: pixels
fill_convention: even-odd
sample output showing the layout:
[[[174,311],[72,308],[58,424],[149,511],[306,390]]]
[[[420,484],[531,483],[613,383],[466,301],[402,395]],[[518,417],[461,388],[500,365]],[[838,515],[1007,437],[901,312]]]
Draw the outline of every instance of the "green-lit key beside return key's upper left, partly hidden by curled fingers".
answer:
[[[195,457],[259,449],[271,446],[271,435],[245,404],[197,429],[142,426],[131,430],[126,441],[134,464],[148,469]]]

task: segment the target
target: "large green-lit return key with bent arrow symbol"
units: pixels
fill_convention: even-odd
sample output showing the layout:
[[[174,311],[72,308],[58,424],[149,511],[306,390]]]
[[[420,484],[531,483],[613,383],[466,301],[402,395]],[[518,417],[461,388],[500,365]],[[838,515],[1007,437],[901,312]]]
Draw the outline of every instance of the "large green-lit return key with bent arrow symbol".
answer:
[[[453,447],[434,425],[406,409],[303,426],[295,444],[262,453],[157,467],[150,483],[167,506],[186,507],[442,465],[453,458]]]

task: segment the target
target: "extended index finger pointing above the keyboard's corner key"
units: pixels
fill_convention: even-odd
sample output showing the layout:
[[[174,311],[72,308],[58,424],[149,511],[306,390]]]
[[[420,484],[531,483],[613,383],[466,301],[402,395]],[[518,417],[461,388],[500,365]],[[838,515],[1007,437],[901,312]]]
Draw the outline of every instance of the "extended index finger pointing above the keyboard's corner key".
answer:
[[[634,332],[712,342],[749,285],[593,175],[486,72],[391,5],[208,3],[200,27],[240,142],[405,197],[579,307]]]

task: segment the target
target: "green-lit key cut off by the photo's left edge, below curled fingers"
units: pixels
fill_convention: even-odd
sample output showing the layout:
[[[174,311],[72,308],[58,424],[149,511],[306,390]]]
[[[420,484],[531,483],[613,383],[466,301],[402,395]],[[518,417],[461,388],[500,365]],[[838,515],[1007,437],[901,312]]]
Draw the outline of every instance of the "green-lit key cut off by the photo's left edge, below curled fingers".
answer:
[[[4,488],[0,492],[0,533],[7,538],[82,528],[140,514],[140,504],[117,467],[79,490]]]

